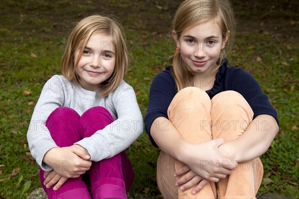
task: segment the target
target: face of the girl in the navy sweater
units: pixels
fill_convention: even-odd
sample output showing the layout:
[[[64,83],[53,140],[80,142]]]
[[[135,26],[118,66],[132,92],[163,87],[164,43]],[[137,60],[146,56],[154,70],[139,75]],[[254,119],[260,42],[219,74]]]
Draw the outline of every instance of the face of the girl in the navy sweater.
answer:
[[[227,38],[222,38],[221,30],[214,20],[186,29],[179,39],[175,32],[172,35],[176,46],[180,48],[183,61],[195,76],[211,73],[227,41]]]

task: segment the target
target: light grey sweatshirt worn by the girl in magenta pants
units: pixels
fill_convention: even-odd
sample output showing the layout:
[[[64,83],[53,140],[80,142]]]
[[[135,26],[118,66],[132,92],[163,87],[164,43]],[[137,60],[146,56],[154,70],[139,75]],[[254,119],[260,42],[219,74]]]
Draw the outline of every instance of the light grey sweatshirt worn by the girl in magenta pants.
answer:
[[[111,158],[126,150],[142,134],[143,117],[130,85],[122,81],[105,98],[98,95],[97,91],[99,90],[84,90],[62,75],[54,75],[44,85],[27,132],[30,152],[44,171],[51,170],[51,167],[42,162],[45,153],[57,147],[45,122],[57,107],[70,107],[82,115],[91,107],[103,106],[112,114],[114,122],[76,143],[86,148],[91,160],[95,162]]]

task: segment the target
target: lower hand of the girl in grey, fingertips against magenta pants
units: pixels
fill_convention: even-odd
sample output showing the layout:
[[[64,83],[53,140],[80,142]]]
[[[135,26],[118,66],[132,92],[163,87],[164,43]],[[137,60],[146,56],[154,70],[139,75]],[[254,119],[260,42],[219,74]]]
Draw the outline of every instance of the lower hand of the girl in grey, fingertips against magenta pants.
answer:
[[[43,184],[46,186],[47,189],[50,189],[53,185],[56,184],[53,188],[54,191],[58,190],[68,179],[57,174],[54,170],[46,171],[44,173],[44,178],[45,180]]]

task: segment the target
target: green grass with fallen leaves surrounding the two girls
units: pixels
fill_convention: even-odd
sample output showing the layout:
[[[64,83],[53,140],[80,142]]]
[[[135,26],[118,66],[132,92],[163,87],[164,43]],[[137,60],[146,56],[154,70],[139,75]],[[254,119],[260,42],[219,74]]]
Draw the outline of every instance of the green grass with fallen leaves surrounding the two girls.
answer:
[[[122,18],[131,53],[126,81],[134,87],[145,115],[151,80],[168,64],[167,59],[175,49],[167,33],[179,2],[162,1],[158,5],[163,8],[159,9],[154,0],[1,1],[1,198],[26,198],[40,187],[39,168],[29,153],[26,132],[45,81],[60,73],[59,63],[71,24],[103,11]],[[274,7],[271,3],[258,4],[250,12],[247,4],[233,2],[238,10],[239,33],[230,64],[244,68],[258,80],[280,119],[280,132],[261,157],[264,178],[271,181],[269,184],[264,181],[259,192],[299,198],[298,14],[287,7],[280,17],[279,1],[275,1]],[[266,10],[266,18],[258,17],[259,9]],[[273,23],[277,29],[272,27]],[[132,144],[129,157],[136,178],[131,195],[145,193],[158,197],[155,180],[158,153],[146,133]]]

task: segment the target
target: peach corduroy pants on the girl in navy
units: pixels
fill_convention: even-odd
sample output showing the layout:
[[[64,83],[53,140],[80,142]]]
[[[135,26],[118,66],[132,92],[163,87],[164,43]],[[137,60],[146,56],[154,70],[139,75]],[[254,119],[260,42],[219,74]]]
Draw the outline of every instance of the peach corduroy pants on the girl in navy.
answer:
[[[227,142],[242,136],[252,121],[253,111],[237,92],[221,92],[210,100],[206,92],[188,87],[179,91],[171,101],[168,118],[183,139],[190,143],[219,137]],[[256,158],[238,163],[231,175],[220,179],[218,183],[210,182],[193,195],[191,192],[195,186],[184,192],[175,186],[177,179],[173,174],[183,165],[163,151],[160,152],[157,185],[164,199],[255,199],[263,178],[262,162]]]

